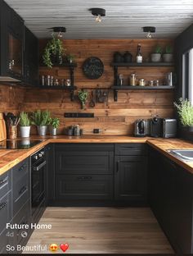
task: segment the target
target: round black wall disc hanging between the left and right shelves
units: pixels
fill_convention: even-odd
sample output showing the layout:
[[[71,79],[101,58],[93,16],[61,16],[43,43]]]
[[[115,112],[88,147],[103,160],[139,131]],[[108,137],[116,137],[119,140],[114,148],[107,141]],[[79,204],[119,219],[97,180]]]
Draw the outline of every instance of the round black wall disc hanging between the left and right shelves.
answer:
[[[83,62],[83,73],[89,79],[98,79],[104,72],[104,65],[98,57],[88,57]]]

